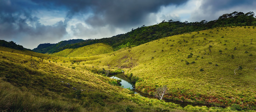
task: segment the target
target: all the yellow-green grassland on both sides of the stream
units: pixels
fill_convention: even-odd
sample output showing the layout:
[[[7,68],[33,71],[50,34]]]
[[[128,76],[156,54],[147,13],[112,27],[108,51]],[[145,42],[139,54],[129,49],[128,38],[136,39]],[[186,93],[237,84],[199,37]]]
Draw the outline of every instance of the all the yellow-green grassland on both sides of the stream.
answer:
[[[64,55],[1,48],[0,110],[253,112],[256,105],[255,35],[256,29],[252,27],[214,28],[85,57],[78,55],[87,52],[86,49],[75,53],[76,57],[60,57]],[[239,66],[242,70],[236,70],[234,75]],[[140,97],[103,73],[92,72],[120,69],[143,93],[153,95],[157,87],[167,85],[166,99],[216,106],[182,108]]]

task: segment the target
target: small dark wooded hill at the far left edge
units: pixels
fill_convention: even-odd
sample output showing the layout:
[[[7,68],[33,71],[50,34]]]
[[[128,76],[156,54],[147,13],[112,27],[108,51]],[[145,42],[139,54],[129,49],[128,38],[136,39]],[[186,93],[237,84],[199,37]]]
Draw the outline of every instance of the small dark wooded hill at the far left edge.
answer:
[[[17,50],[31,50],[31,49],[23,48],[23,46],[17,45],[17,44],[16,44],[15,42],[13,42],[13,41],[7,42],[7,41],[5,41],[5,40],[0,40],[0,46],[2,46],[2,47],[7,47],[7,48],[11,48],[11,49],[17,49]]]

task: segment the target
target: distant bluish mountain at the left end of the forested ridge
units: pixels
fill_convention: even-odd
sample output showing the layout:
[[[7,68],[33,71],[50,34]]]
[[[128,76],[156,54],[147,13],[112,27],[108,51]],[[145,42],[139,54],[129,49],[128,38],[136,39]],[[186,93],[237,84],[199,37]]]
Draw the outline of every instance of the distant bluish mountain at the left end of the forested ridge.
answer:
[[[53,53],[56,49],[62,48],[64,46],[67,46],[69,44],[74,44],[78,42],[83,42],[83,39],[72,39],[68,41],[61,41],[58,43],[43,43],[39,44],[37,48],[33,49],[35,52],[39,53]]]

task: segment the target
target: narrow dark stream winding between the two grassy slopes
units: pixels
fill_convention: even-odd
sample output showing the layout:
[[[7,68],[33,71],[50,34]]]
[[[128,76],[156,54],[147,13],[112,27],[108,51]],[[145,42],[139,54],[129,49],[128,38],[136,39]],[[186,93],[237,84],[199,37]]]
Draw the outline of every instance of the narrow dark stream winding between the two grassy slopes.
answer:
[[[130,89],[132,91],[134,91],[134,94],[139,94],[142,97],[146,97],[146,98],[155,98],[154,96],[150,96],[148,94],[144,94],[141,91],[138,91],[135,89],[135,85],[131,83],[131,81],[124,75],[124,73],[121,74],[116,74],[116,75],[111,75],[109,76],[110,78],[113,79],[121,79],[121,86],[123,88],[127,88]],[[179,104],[181,107],[185,107],[187,105],[192,105],[192,106],[207,106],[207,107],[212,107],[214,105],[201,105],[201,104],[193,104],[193,103],[189,103],[189,102],[181,102],[181,101],[174,101],[174,100],[169,100],[169,99],[163,99],[165,102],[171,102],[171,103],[175,103],[175,104]]]

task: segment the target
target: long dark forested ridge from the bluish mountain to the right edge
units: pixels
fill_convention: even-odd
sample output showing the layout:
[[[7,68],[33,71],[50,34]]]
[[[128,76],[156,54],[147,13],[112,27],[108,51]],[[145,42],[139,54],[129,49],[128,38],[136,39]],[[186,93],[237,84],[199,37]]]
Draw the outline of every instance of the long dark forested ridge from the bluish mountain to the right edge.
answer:
[[[178,35],[193,31],[206,30],[216,27],[228,27],[228,26],[253,26],[256,25],[256,19],[254,13],[242,13],[233,12],[231,14],[223,14],[217,20],[214,21],[200,21],[200,22],[180,22],[180,21],[162,21],[159,24],[153,26],[142,26],[136,29],[132,29],[126,34],[115,35],[110,38],[102,39],[89,39],[81,42],[74,42],[73,44],[66,44],[58,46],[57,44],[49,45],[46,48],[33,49],[35,52],[40,53],[55,53],[64,49],[75,49],[94,43],[105,43],[113,47],[114,50],[118,50],[125,47],[138,46],[146,42],[157,40],[163,37]],[[47,46],[47,45],[45,45]]]

